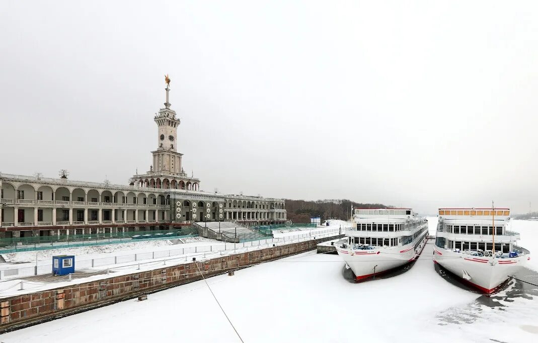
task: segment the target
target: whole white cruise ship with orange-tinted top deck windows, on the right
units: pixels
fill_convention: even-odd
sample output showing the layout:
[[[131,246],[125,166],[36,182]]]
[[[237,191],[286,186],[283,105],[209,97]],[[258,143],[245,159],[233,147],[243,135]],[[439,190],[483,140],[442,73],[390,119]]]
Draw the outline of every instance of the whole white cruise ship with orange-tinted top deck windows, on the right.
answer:
[[[509,209],[439,209],[434,262],[490,294],[530,260]]]

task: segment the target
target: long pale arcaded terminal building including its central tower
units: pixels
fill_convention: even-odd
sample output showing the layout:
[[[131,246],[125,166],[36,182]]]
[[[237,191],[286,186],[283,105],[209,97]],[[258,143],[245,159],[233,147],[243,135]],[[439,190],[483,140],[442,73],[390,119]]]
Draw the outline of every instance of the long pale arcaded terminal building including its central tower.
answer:
[[[129,185],[0,174],[0,237],[93,234],[173,228],[192,221],[282,224],[284,199],[200,190],[177,151],[179,118],[168,102],[155,115],[157,149],[150,170]]]

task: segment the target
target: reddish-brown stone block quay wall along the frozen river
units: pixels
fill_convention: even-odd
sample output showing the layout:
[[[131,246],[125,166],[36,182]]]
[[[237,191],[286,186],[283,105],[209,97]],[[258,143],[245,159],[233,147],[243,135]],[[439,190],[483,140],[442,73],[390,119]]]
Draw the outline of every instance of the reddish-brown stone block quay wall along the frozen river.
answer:
[[[316,248],[317,240],[196,262],[204,276],[245,268]],[[0,333],[39,321],[104,306],[140,294],[201,280],[195,262],[0,299]]]

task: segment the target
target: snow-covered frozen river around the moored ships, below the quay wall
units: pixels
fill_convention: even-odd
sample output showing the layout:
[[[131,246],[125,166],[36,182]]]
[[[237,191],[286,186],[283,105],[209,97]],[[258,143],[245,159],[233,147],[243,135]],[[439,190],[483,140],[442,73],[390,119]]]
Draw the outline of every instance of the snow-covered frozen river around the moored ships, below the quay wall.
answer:
[[[208,282],[245,342],[538,340],[536,287],[514,281],[493,297],[480,295],[436,269],[432,252],[430,241],[411,268],[363,283],[349,282],[339,256],[315,252]],[[532,280],[536,272],[520,276]],[[0,337],[4,343],[116,340],[239,341],[203,281]]]

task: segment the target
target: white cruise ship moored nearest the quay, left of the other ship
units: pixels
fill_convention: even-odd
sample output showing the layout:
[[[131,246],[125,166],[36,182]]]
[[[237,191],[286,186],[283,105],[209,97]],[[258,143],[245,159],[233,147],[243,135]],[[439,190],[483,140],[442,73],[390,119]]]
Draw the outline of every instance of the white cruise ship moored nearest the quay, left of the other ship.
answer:
[[[356,209],[351,219],[336,251],[357,281],[413,261],[426,244],[428,222],[412,209]]]

